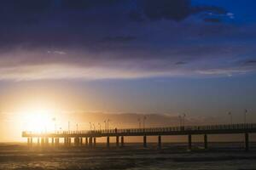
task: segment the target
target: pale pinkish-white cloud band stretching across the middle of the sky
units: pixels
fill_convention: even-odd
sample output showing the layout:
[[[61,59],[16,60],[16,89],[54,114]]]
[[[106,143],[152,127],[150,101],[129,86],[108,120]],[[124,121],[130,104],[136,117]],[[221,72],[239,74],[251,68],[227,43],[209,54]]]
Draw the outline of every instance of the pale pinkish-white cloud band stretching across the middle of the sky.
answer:
[[[229,47],[230,48],[230,47]],[[250,47],[248,47],[250,48]],[[253,48],[251,48],[252,50]],[[166,49],[165,49],[166,50]],[[30,81],[41,79],[134,79],[142,77],[219,77],[255,72],[253,60],[248,65],[236,62],[235,54],[247,48],[173,47],[167,52],[121,50],[85,53],[69,50],[42,53],[18,51],[2,54],[0,79]],[[137,57],[137,55],[140,56]],[[169,57],[166,57],[166,54]],[[4,57],[3,57],[4,56]],[[9,59],[9,56],[12,56]],[[36,57],[35,57],[36,56]],[[135,57],[133,57],[135,56]]]

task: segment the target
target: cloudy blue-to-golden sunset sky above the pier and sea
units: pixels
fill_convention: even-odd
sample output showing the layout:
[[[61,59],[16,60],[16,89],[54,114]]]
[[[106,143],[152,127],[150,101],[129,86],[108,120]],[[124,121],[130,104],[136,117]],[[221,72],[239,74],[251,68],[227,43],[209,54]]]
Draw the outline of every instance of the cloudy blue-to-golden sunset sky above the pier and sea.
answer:
[[[89,128],[88,114],[96,113],[106,115],[97,118],[102,124],[108,116],[134,117],[113,118],[113,127],[136,127],[144,114],[168,116],[170,125],[147,119],[158,127],[177,124],[184,113],[191,124],[227,123],[230,111],[242,122],[245,109],[254,122],[255,6],[254,0],[1,1],[0,141],[19,140],[23,118],[38,111],[51,112],[63,128],[73,117]]]

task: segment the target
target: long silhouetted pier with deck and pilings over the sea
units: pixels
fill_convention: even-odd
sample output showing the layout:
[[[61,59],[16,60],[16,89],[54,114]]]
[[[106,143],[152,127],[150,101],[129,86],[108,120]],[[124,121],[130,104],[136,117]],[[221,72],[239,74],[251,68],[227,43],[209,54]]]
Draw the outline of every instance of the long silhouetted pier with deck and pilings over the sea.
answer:
[[[32,133],[22,132],[22,137],[27,138],[27,144],[32,145],[33,139],[37,139],[38,145],[60,145],[63,139],[65,146],[88,146],[95,147],[96,139],[106,138],[106,146],[110,146],[110,137],[116,139],[116,146],[125,145],[125,137],[143,137],[143,146],[147,147],[147,137],[157,136],[158,147],[161,148],[162,136],[187,135],[188,149],[192,149],[192,135],[204,135],[204,147],[208,147],[207,135],[210,134],[244,134],[245,150],[249,150],[249,134],[256,133],[256,123],[252,124],[226,124],[226,125],[206,125],[206,126],[179,126],[179,127],[150,127],[150,128],[127,128],[109,130],[84,130],[84,131],[56,131],[55,133]],[[119,141],[120,139],[120,141]],[[50,142],[49,142],[50,140]],[[73,142],[73,144],[72,144]]]

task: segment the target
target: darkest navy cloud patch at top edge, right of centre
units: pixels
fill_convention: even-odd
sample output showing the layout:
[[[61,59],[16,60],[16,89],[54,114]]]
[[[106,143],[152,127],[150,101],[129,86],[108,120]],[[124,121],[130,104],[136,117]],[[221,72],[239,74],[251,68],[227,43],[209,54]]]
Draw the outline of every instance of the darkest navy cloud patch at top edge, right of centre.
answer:
[[[225,14],[224,8],[214,6],[192,6],[190,0],[143,0],[139,1],[140,10],[131,11],[132,20],[143,20],[143,16],[149,20],[175,20],[181,21],[192,14],[202,12],[212,12],[216,14]]]

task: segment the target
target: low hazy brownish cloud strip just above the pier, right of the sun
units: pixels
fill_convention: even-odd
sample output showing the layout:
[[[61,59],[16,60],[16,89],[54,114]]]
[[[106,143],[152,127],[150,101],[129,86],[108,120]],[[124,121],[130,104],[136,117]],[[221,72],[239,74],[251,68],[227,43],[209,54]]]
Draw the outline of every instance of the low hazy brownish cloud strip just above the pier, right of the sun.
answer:
[[[67,112],[71,117],[75,117],[77,121],[87,122],[85,127],[90,127],[89,122],[104,122],[105,120],[111,121],[111,128],[137,128],[138,118],[143,119],[143,116],[147,116],[146,127],[175,127],[180,126],[178,113],[149,113],[147,115],[143,113],[113,113],[113,112],[101,112],[101,111],[69,111]],[[223,122],[225,122],[224,120]],[[186,125],[206,125],[219,122],[218,117],[207,116],[197,117],[193,116],[185,118]]]

